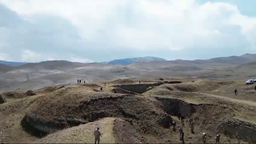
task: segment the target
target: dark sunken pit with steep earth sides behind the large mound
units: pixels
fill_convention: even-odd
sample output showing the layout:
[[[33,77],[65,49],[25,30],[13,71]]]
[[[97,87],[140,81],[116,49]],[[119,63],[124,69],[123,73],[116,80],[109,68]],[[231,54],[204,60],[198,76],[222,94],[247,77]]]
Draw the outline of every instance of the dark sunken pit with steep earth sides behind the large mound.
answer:
[[[119,87],[121,89],[125,89],[128,91],[136,92],[136,93],[143,93],[146,92],[149,87],[153,86],[160,86],[162,84],[174,84],[174,83],[181,83],[181,81],[164,81],[164,82],[158,82],[158,83],[141,83],[141,84],[119,84],[114,85],[113,87]]]

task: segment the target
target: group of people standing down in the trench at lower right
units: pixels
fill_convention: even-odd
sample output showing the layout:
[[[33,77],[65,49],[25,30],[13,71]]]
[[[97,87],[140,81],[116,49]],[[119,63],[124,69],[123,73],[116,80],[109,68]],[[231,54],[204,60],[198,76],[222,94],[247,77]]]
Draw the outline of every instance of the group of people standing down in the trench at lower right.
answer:
[[[184,122],[183,122],[184,121],[184,114],[178,113],[178,119],[181,120],[181,123],[184,126]],[[175,126],[176,126],[176,122],[173,121],[172,122],[173,129],[175,129]],[[193,117],[190,117],[189,125],[188,126],[190,127],[191,133],[194,133],[194,120],[193,120]],[[180,133],[180,140],[182,142],[184,142],[184,132],[183,132],[182,127],[179,127],[179,133]],[[206,143],[206,139],[207,139],[206,133],[202,133],[203,143]],[[220,133],[216,135],[216,138],[215,138],[216,142],[215,143],[219,143],[219,139],[220,139]]]

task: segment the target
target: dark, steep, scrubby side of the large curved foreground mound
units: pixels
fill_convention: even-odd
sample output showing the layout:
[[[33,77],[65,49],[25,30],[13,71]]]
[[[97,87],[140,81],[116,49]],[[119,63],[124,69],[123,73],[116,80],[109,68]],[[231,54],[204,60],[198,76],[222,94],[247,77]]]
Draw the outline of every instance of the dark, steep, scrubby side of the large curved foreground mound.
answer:
[[[158,110],[133,105],[136,102],[136,99],[133,98],[134,96],[110,96],[81,101],[75,106],[77,109],[76,113],[79,116],[74,114],[74,116],[56,117],[47,121],[38,118],[36,113],[31,111],[22,119],[21,125],[26,132],[37,137],[43,137],[49,133],[93,122],[104,117],[129,118],[143,125],[149,133],[154,133],[155,128],[158,126],[164,128],[170,127],[170,123],[172,122],[171,116],[164,112],[164,106],[162,104],[158,104],[155,101],[156,105],[160,106]],[[137,99],[141,98],[137,96]],[[155,128],[150,127],[150,125],[155,125]]]

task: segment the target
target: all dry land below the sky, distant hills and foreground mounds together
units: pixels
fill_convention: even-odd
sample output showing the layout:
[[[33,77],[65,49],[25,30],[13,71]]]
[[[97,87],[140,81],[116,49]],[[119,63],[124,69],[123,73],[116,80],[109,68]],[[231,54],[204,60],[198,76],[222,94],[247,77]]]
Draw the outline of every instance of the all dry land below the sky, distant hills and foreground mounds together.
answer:
[[[2,64],[0,142],[92,143],[97,127],[101,143],[256,142],[254,57]]]

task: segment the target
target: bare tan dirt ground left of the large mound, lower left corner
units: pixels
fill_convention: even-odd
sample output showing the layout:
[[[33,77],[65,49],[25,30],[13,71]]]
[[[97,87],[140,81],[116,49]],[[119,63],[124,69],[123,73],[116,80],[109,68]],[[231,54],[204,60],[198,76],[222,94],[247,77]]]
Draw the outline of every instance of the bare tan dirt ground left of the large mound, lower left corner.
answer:
[[[26,114],[29,102],[42,96],[34,95],[21,99],[7,99],[0,105],[0,142],[2,143],[27,143],[38,139],[25,132],[21,127],[21,120]]]

